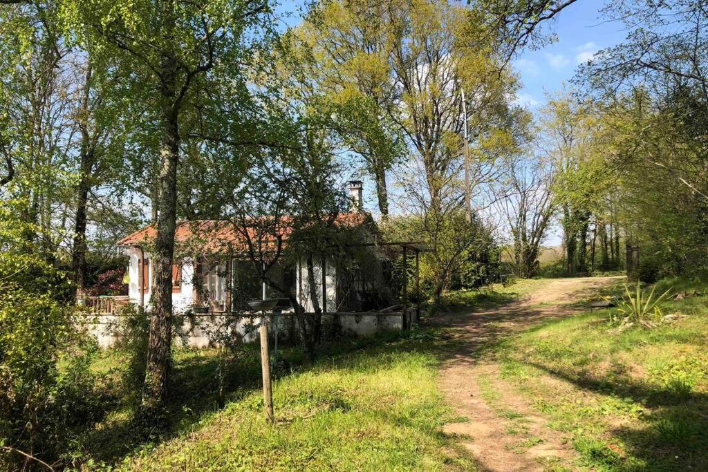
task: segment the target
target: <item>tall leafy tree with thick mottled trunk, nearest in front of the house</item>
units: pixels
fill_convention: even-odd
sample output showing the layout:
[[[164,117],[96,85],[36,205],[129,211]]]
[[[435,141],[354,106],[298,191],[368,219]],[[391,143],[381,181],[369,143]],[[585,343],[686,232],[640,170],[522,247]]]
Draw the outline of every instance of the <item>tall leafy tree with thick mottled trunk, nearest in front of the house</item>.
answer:
[[[231,80],[232,88],[246,89],[245,66],[238,64],[249,62],[253,42],[248,33],[268,26],[261,22],[268,5],[76,0],[63,4],[62,13],[82,45],[110,54],[133,72],[132,92],[149,104],[145,119],[156,123],[159,135],[155,289],[142,402],[143,413],[153,417],[166,398],[169,379],[180,147],[189,136],[189,120],[208,120],[210,107],[219,101],[212,91],[224,91],[220,82]]]

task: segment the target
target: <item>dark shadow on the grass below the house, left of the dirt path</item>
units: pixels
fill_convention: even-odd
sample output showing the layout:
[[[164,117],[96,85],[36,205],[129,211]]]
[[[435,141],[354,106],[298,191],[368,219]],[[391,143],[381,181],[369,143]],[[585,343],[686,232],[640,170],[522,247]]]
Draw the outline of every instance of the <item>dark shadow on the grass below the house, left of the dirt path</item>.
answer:
[[[278,363],[274,376],[276,379],[282,379],[311,369],[352,366],[358,372],[373,374],[380,369],[394,366],[399,362],[401,353],[420,352],[432,354],[437,359],[440,355],[439,339],[440,331],[433,328],[414,328],[408,333],[382,333],[369,339],[340,338],[322,345],[319,348],[318,360],[314,363],[307,362],[299,347],[286,345],[280,349],[282,362]],[[153,431],[152,436],[146,438],[132,422],[132,408],[124,405],[122,410],[114,411],[108,420],[86,434],[83,441],[84,459],[91,458],[94,462],[105,465],[118,464],[142,449],[152,448],[193,429],[207,415],[222,410],[224,405],[260,391],[261,364],[258,345],[244,346],[239,358],[224,375],[220,386],[221,396],[217,380],[217,357],[209,351],[187,352],[188,355],[183,355],[184,353],[176,351],[170,400],[166,406],[166,418],[169,418],[166,427]],[[331,403],[331,398],[327,400]],[[346,407],[346,398],[341,401],[342,406]],[[410,418],[399,417],[393,413],[386,420],[403,427],[423,429],[427,434],[435,434],[435,437],[442,434],[432,432],[429,425],[416,424]]]

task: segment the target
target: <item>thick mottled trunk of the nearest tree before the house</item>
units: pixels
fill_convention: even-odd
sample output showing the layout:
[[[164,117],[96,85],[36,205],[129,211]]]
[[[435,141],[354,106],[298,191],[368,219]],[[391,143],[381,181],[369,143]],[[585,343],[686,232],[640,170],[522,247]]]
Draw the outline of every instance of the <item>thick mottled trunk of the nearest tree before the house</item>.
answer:
[[[167,16],[171,18],[171,12],[168,12]],[[162,62],[159,214],[153,256],[154,289],[147,347],[147,369],[142,398],[142,410],[147,418],[156,418],[164,405],[171,367],[172,259],[176,229],[180,138],[179,108],[176,100],[177,65],[171,57],[164,57]]]

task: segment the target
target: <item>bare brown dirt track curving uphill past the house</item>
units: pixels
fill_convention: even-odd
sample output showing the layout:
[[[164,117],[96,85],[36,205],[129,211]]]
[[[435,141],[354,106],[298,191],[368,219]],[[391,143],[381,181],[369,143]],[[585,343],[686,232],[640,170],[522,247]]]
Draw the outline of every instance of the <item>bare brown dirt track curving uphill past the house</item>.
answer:
[[[615,282],[617,277],[553,279],[527,297],[476,313],[449,313],[435,324],[450,328],[450,355],[442,367],[447,401],[461,418],[445,431],[456,434],[486,471],[544,471],[572,468],[573,450],[548,427],[531,405],[499,379],[500,365],[491,347],[547,318],[577,313],[569,304]],[[491,398],[493,392],[493,398]],[[515,431],[522,429],[523,437]]]

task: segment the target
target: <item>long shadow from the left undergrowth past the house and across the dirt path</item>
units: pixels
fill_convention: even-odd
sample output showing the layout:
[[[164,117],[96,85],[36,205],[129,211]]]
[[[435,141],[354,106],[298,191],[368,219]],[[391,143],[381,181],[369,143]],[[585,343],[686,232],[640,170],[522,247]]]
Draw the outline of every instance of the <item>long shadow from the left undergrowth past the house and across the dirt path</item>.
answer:
[[[493,355],[510,331],[515,330],[513,325],[527,326],[539,318],[552,316],[551,313],[558,308],[520,308],[510,303],[517,297],[514,292],[474,297],[477,308],[498,307],[494,313],[484,316],[457,313],[430,320],[429,326],[409,333],[382,333],[370,339],[339,339],[320,347],[319,362],[315,364],[308,364],[298,347],[286,346],[281,353],[287,367],[276,371],[275,376],[282,378],[295,372],[306,372],[322,364],[348,365],[352,359],[358,359],[357,368],[361,372],[367,372],[367,369],[376,372],[386,367],[387,363],[396,362],[396,355],[402,352],[432,355],[440,363],[451,360],[474,363],[484,355]],[[471,321],[469,316],[474,319]],[[474,337],[472,343],[470,335]],[[373,361],[367,362],[367,359]],[[108,420],[86,434],[83,448],[86,456],[105,464],[115,464],[141,449],[194,428],[205,416],[221,410],[224,404],[238,401],[258,391],[261,386],[258,345],[244,346],[244,351],[232,363],[220,386],[218,367],[219,362],[214,355],[192,353],[178,357],[173,367],[166,415],[170,422],[166,428],[145,439],[130,420],[132,410],[123,406],[122,411],[111,413]],[[395,416],[387,420],[407,421]]]

